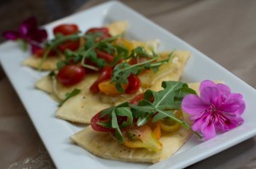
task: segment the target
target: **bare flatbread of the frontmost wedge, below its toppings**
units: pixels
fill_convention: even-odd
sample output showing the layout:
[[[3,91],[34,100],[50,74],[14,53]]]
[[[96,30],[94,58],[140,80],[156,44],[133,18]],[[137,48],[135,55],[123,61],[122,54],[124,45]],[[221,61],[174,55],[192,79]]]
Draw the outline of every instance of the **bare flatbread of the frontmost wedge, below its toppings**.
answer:
[[[186,140],[191,132],[181,128],[177,132],[163,132],[160,142],[163,149],[160,152],[148,149],[132,149],[119,144],[108,132],[96,132],[90,126],[71,136],[71,140],[90,151],[94,155],[116,161],[151,162],[165,160],[173,155]]]

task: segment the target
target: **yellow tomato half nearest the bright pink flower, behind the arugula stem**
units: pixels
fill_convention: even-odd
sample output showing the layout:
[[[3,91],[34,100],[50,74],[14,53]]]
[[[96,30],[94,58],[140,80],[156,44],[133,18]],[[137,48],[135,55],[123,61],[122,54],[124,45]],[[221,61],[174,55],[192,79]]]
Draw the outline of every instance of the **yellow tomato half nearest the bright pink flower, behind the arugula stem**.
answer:
[[[179,119],[180,121],[183,121],[183,112],[181,110],[175,110],[174,115]],[[181,124],[177,121],[173,121],[171,118],[165,118],[160,121],[160,128],[162,131],[165,132],[175,132],[178,129],[180,129]]]

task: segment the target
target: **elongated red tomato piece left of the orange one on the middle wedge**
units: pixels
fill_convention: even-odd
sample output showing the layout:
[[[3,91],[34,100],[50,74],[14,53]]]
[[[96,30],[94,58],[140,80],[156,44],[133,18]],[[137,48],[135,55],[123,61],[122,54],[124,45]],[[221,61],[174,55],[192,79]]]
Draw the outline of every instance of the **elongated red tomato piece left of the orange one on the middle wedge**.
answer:
[[[112,76],[112,69],[109,65],[107,65],[106,67],[104,67],[101,71],[100,76],[98,77],[98,79],[96,80],[96,82],[94,82],[91,86],[90,86],[90,92],[92,93],[99,93],[100,89],[98,87],[100,82],[103,81],[107,81],[108,79],[110,79]]]

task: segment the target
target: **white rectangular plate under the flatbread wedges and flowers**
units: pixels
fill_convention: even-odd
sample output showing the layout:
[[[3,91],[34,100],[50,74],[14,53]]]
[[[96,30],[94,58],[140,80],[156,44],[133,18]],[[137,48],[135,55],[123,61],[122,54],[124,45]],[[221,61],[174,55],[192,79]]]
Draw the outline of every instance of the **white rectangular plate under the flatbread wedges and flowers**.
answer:
[[[48,32],[51,32],[55,25],[75,23],[79,25],[80,30],[85,31],[90,27],[102,26],[115,20],[129,21],[127,37],[141,41],[160,39],[160,51],[174,48],[191,51],[191,58],[184,70],[183,82],[200,82],[206,79],[224,80],[233,92],[243,94],[247,104],[247,109],[242,115],[245,122],[241,127],[218,135],[218,137],[207,142],[202,142],[193,136],[175,155],[154,165],[108,161],[90,155],[86,150],[70,142],[69,137],[81,130],[82,127],[55,118],[57,108],[55,101],[49,95],[38,91],[34,87],[35,82],[45,73],[39,73],[21,65],[22,61],[29,56],[29,53],[21,52],[19,44],[15,42],[4,42],[0,47],[3,69],[25,105],[57,168],[183,168],[255,135],[256,114],[254,111],[256,110],[256,104],[253,103],[256,98],[255,90],[232,75],[228,70],[213,62],[206,55],[201,54],[186,42],[145,19],[141,14],[137,14],[124,4],[119,2],[103,3],[79,14],[73,14],[45,25],[45,28]],[[50,34],[50,37],[52,37],[52,34]]]

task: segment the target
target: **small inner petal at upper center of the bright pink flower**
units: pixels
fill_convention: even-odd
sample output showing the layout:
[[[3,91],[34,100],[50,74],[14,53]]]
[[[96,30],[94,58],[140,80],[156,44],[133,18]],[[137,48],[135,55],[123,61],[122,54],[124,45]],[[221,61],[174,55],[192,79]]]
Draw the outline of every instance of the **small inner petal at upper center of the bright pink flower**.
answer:
[[[201,100],[205,104],[217,104],[219,92],[217,87],[204,87],[201,90]]]

